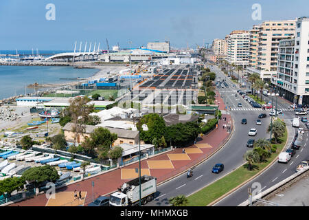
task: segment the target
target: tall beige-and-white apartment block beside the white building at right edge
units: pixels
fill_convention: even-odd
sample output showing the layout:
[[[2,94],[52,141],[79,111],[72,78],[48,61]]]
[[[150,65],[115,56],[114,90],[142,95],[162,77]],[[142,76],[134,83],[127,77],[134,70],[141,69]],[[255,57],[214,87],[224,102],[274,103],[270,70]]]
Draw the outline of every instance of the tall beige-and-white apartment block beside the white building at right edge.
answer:
[[[294,36],[295,20],[264,21],[260,25],[254,25],[250,33],[250,51],[254,54],[249,57],[247,73],[258,73],[263,80],[270,81],[271,76],[277,74],[279,41]],[[255,42],[257,36],[258,44]],[[256,57],[255,51],[258,52]]]

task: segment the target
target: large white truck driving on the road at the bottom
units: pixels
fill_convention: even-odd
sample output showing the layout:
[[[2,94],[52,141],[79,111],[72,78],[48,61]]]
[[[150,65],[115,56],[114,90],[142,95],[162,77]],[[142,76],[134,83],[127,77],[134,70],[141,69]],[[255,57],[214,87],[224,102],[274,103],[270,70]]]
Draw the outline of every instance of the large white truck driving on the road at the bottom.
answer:
[[[110,206],[139,206],[139,178],[132,179],[120,186],[118,192],[111,194]],[[157,192],[157,178],[141,176],[141,204],[152,201]]]

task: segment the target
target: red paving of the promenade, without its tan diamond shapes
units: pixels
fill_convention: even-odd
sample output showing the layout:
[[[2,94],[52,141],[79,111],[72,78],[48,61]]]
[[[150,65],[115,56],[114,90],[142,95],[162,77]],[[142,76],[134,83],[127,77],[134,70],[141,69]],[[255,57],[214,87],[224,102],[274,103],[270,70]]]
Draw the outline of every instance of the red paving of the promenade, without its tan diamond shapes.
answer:
[[[218,95],[218,93],[217,93]],[[219,109],[223,110],[225,109],[225,105],[223,104],[222,98],[216,96],[216,100],[219,103]],[[231,120],[230,115],[222,115],[222,118],[227,118],[226,122],[225,120],[221,119],[219,121],[219,126],[217,129],[214,129],[207,135],[204,135],[203,137],[199,138],[197,144],[210,144],[212,148],[200,148],[203,153],[188,153],[188,156],[190,157],[190,160],[178,160],[178,161],[172,161],[172,164],[174,168],[160,168],[160,169],[152,169],[150,168],[150,175],[157,177],[157,182],[164,181],[165,179],[169,179],[173,177],[174,175],[177,175],[178,173],[181,173],[184,170],[187,170],[188,168],[194,166],[198,162],[201,162],[205,157],[210,155],[211,153],[214,153],[229,137],[229,133],[227,133],[226,129],[223,129],[222,124],[227,123],[229,120]],[[189,148],[196,148],[196,146],[192,145],[189,146]],[[157,155],[155,157],[152,157],[148,160],[168,160],[169,157],[167,154],[171,153],[182,153],[182,148],[176,148],[174,151],[170,151],[167,153],[163,153],[161,155]],[[135,164],[130,164],[129,166],[125,166],[124,168],[138,168],[139,163],[136,162]],[[141,168],[148,168],[147,160],[141,161]],[[85,201],[85,205],[87,203],[91,202],[92,200],[92,186],[91,181],[95,182],[94,186],[94,195],[98,197],[98,195],[106,195],[110,192],[113,192],[114,190],[117,190],[117,187],[121,186],[124,182],[128,181],[128,179],[121,179],[121,168],[118,168],[116,170],[113,170],[108,173],[104,173],[102,175],[98,175],[96,177],[92,177],[89,179],[85,179],[84,181],[80,181],[76,184],[71,184],[69,186],[65,186],[63,188],[60,188],[56,192],[63,192],[63,191],[74,191],[74,190],[82,190],[87,191],[87,197]],[[18,203],[14,203],[10,206],[45,206],[47,203],[47,198],[45,197],[45,194],[38,195],[37,197],[26,199],[23,201],[20,201]],[[61,206],[61,204],[59,204]]]

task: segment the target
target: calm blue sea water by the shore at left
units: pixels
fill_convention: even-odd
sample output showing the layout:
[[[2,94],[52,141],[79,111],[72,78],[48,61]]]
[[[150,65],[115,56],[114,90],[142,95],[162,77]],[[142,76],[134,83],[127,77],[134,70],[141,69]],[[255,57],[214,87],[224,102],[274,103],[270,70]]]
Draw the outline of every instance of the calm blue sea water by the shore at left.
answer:
[[[60,78],[88,78],[98,69],[74,69],[73,67],[0,66],[0,99],[34,92],[27,88],[33,83],[66,83],[72,80]],[[43,89],[38,89],[42,91]]]

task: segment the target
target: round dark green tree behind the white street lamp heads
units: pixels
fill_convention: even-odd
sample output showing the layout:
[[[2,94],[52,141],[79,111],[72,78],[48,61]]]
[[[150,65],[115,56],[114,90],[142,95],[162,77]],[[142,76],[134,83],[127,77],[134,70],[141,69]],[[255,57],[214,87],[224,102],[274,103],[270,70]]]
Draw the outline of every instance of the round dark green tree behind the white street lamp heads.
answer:
[[[147,124],[148,131],[141,129],[142,124]],[[141,117],[137,123],[137,129],[140,131],[141,140],[150,144],[155,137],[159,140],[165,134],[166,126],[165,121],[159,114],[150,113]]]

